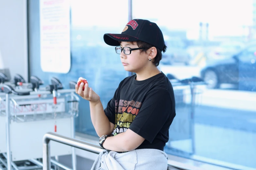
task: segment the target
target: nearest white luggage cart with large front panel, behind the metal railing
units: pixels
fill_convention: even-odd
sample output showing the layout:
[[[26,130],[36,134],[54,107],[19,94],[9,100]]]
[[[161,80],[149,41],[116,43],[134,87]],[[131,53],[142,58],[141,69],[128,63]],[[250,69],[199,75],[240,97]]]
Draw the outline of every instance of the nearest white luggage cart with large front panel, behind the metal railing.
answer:
[[[9,95],[10,93],[15,92],[14,89],[8,85],[3,86],[5,93],[7,93],[6,96],[8,95],[8,97],[6,97],[6,106],[9,107],[9,109],[6,109],[5,111],[5,117],[6,119],[9,118],[9,121],[7,122],[10,123],[6,123],[6,125],[9,126],[9,128],[6,128],[7,154],[4,154],[7,163],[3,162],[1,159],[0,162],[7,165],[8,170],[11,168],[10,164],[17,170],[17,166],[15,166],[13,161],[20,160],[29,160],[34,164],[42,166],[42,163],[36,159],[42,158],[41,139],[42,136],[49,131],[54,132],[57,130],[56,133],[58,134],[67,137],[75,137],[74,118],[78,116],[79,98],[74,94],[75,88],[62,89],[60,82],[55,82],[57,82],[57,84],[47,87],[49,90],[48,94],[53,95],[48,95],[48,98],[39,100],[24,100],[26,97],[29,98],[29,95],[19,96],[23,97],[23,100],[17,99],[18,97],[16,97],[16,99],[14,99],[15,97],[10,98]],[[58,90],[58,86],[61,86],[60,89],[62,90]],[[28,92],[27,94],[30,93],[31,92]],[[36,94],[36,92],[33,94]],[[60,94],[66,95],[61,96]],[[49,98],[49,96],[51,96],[51,98]],[[52,97],[55,97],[54,101],[56,101],[57,96],[59,96],[57,99],[58,102],[54,103]],[[54,121],[56,120],[58,129],[54,128]],[[22,145],[17,145],[17,143]],[[56,144],[51,150],[54,152],[52,153],[52,156],[66,155],[74,151],[71,147]],[[76,155],[74,152],[72,152],[72,158],[74,167],[76,166]],[[52,162],[60,165],[60,163],[54,160],[52,160]]]

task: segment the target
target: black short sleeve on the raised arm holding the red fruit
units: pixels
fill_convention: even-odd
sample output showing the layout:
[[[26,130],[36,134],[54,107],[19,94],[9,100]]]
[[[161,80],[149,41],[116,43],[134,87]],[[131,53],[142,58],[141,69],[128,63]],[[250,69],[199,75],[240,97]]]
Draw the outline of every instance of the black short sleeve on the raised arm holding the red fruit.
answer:
[[[120,87],[123,81],[120,82],[118,88],[116,89],[113,98],[108,102],[107,107],[104,109],[105,115],[108,117],[109,121],[115,124],[115,101],[117,100],[117,95],[120,92]]]

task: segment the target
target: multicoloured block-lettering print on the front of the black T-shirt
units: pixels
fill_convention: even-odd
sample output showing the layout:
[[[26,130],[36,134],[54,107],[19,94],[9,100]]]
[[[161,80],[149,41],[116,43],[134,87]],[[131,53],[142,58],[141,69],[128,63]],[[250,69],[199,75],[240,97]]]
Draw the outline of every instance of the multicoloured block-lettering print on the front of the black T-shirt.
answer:
[[[115,128],[113,135],[126,132],[130,124],[139,113],[142,103],[138,101],[115,101]]]

